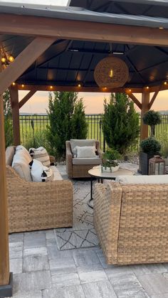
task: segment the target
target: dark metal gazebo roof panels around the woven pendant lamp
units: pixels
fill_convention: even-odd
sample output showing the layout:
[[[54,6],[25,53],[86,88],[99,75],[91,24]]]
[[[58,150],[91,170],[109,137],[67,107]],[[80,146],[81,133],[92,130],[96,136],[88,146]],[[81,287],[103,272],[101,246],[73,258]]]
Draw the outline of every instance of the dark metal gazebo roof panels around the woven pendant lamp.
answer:
[[[148,0],[141,1],[141,4],[139,2],[71,0],[70,6],[81,6],[102,13],[168,18],[168,9],[164,1]],[[4,50],[6,53],[12,53],[14,57],[19,55],[31,40],[31,37],[0,36]],[[109,53],[109,43],[59,40],[21,75],[17,83],[58,86],[77,86],[80,83],[83,87],[96,87],[93,76],[95,66]],[[168,47],[112,43],[112,53],[125,60],[129,68],[130,76],[125,87],[159,85],[168,80]]]

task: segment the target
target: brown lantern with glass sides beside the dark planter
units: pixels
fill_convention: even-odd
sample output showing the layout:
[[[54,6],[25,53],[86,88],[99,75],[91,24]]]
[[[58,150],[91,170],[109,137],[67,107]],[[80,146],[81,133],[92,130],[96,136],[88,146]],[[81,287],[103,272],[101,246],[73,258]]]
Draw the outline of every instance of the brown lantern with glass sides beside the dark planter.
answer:
[[[159,155],[154,155],[149,159],[149,175],[164,175],[165,161]]]

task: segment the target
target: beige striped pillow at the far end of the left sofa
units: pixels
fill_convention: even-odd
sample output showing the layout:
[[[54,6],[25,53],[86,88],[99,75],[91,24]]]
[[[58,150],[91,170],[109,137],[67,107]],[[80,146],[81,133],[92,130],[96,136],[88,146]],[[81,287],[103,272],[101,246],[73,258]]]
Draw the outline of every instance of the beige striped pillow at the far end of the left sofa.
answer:
[[[45,148],[39,147],[37,149],[29,149],[29,154],[31,154],[32,159],[41,161],[43,166],[50,166],[50,157]]]

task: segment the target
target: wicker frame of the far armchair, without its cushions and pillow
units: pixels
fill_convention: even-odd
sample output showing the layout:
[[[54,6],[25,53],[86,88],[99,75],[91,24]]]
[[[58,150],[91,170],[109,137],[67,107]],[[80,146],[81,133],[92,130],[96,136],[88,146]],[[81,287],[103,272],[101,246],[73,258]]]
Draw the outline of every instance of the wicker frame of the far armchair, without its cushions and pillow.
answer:
[[[93,166],[98,166],[95,164],[73,164],[73,152],[71,150],[70,141],[65,142],[66,146],[66,171],[69,178],[87,178],[90,177],[88,171],[93,168]],[[97,149],[96,154],[102,158],[103,152],[100,150],[100,142],[95,141],[95,147]]]

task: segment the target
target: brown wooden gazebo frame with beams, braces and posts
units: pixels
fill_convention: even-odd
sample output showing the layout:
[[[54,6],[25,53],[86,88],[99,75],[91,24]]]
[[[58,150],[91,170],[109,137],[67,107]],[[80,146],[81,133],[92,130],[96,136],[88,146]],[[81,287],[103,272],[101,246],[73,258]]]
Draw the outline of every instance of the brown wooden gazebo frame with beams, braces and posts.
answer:
[[[88,1],[90,5],[91,2]],[[4,175],[0,175],[0,293],[1,287],[9,284],[9,243],[8,243],[8,219],[5,180],[5,142],[4,142],[4,115],[3,115],[3,92],[10,87],[11,107],[14,122],[14,142],[20,144],[19,135],[19,108],[21,108],[37,90],[51,91],[82,91],[82,92],[126,92],[127,95],[140,108],[141,115],[152,107],[159,90],[167,90],[168,85],[164,82],[151,86],[141,85],[121,87],[117,89],[105,89],[95,86],[71,85],[12,85],[19,80],[21,75],[46,51],[50,53],[50,47],[60,39],[70,41],[94,41],[100,43],[123,43],[145,46],[168,46],[168,29],[149,28],[142,26],[125,26],[114,23],[98,23],[94,21],[73,21],[71,19],[47,18],[39,16],[22,16],[18,14],[0,14],[0,34],[16,36],[31,36],[33,41],[24,48],[15,58],[14,63],[9,64],[4,70],[0,68],[0,168]],[[131,49],[130,49],[131,51]],[[50,55],[46,55],[50,60]],[[43,65],[46,60],[41,60]],[[19,90],[29,90],[28,94],[19,102]],[[137,100],[134,92],[142,93],[142,102]],[[150,92],[154,95],[149,101]],[[141,138],[147,137],[147,126],[142,124]],[[1,294],[0,294],[1,296]]]

